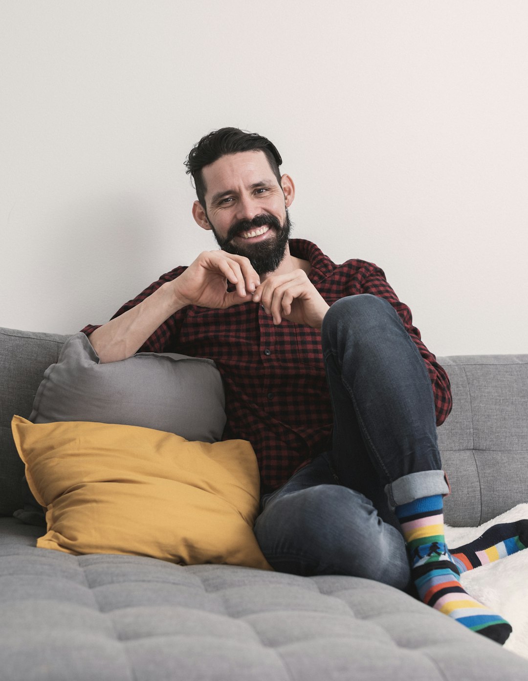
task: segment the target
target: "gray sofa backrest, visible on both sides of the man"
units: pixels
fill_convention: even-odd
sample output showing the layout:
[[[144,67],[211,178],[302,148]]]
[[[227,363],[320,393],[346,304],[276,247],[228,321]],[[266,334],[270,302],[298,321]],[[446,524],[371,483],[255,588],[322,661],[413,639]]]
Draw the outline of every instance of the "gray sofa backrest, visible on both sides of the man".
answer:
[[[28,417],[44,371],[67,336],[0,328],[0,516],[22,507],[24,466],[11,434]],[[446,522],[477,526],[528,502],[528,355],[438,358],[450,377],[453,409],[438,428],[452,493]]]

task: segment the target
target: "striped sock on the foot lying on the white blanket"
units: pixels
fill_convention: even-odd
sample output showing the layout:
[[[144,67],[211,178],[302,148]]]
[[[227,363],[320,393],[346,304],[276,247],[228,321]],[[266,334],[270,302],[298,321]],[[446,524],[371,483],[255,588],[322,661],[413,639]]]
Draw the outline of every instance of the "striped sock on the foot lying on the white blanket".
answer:
[[[528,547],[528,520],[493,525],[483,535],[456,549],[450,549],[452,561],[460,572],[493,563]]]

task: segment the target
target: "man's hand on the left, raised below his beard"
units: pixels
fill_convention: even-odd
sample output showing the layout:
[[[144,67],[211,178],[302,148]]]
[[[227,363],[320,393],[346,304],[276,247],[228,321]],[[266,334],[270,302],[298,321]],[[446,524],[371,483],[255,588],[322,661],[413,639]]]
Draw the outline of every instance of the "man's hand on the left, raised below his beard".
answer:
[[[227,291],[228,282],[236,286],[235,291]],[[260,283],[248,258],[225,251],[204,251],[171,285],[178,306],[221,309],[250,302]]]

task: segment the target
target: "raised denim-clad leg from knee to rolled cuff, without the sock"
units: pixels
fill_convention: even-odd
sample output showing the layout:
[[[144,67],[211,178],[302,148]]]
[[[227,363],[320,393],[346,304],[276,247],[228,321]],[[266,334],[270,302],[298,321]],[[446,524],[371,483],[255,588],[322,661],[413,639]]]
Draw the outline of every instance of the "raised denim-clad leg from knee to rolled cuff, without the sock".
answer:
[[[342,484],[356,488],[367,456],[392,507],[446,494],[431,381],[393,306],[369,294],[342,298],[325,315],[321,338]]]

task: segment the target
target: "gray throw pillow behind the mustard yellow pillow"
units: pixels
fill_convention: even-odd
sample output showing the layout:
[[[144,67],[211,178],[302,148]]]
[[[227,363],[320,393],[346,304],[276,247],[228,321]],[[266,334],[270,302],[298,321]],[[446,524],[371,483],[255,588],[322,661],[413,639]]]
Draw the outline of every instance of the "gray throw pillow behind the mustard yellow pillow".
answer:
[[[222,379],[212,360],[176,353],[142,352],[102,364],[79,332],[68,338],[59,360],[44,372],[29,420],[143,426],[186,440],[216,442],[226,422]],[[14,516],[46,526],[25,478],[22,494],[24,508]]]

